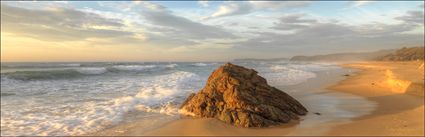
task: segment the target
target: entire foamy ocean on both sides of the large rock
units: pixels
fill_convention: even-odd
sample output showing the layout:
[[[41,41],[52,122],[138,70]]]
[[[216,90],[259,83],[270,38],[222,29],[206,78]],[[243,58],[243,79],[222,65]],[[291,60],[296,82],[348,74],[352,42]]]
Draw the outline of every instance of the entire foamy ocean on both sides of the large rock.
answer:
[[[272,86],[295,85],[336,64],[233,62]],[[83,135],[134,119],[178,116],[224,62],[1,63],[1,135]]]

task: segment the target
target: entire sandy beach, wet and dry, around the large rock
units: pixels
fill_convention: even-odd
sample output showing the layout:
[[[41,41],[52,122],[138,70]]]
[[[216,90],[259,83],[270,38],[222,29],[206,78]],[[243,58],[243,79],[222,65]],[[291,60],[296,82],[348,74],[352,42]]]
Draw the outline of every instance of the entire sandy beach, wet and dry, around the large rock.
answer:
[[[240,128],[215,119],[182,117],[141,130],[135,121],[90,135],[424,135],[423,62],[363,62],[317,73],[307,82],[278,87],[309,110],[300,121],[270,128]],[[351,69],[359,69],[355,71]],[[351,72],[351,73],[350,73]],[[343,76],[349,74],[349,76]],[[338,82],[339,81],[339,82]],[[314,114],[319,112],[320,115]],[[118,132],[119,131],[119,132]]]

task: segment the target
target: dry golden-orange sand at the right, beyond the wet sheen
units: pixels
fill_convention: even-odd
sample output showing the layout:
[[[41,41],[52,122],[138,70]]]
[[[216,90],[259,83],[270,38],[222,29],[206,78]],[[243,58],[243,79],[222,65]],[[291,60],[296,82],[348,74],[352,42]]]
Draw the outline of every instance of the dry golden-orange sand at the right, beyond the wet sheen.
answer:
[[[342,65],[360,71],[328,89],[366,97],[376,102],[377,108],[368,115],[353,119],[353,122],[338,125],[327,135],[423,136],[424,70],[417,67],[421,63],[359,62]],[[388,72],[394,77],[388,76]],[[406,82],[409,84],[403,85]]]

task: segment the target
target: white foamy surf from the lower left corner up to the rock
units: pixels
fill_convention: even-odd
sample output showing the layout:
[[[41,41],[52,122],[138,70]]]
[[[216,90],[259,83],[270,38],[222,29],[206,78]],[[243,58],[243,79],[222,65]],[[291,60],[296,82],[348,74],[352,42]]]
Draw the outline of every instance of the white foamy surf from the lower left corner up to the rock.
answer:
[[[81,135],[117,124],[134,110],[174,115],[177,105],[199,83],[198,75],[179,71],[148,78],[137,94],[109,101],[37,104],[13,112],[2,109],[1,135]]]

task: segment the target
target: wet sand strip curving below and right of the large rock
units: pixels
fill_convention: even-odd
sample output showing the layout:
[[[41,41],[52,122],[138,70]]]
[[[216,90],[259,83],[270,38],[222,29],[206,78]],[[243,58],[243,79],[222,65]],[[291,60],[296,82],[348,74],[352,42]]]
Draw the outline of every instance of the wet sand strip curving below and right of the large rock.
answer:
[[[344,79],[344,74],[350,73],[351,69],[335,69],[335,70],[325,70],[315,72],[316,77],[308,79],[302,83],[289,86],[276,86],[276,88],[281,89],[282,91],[290,94],[302,103],[310,113],[306,116],[301,117],[301,121],[291,121],[287,124],[281,126],[269,127],[269,128],[241,128],[235,127],[228,124],[225,124],[221,121],[212,118],[189,118],[181,117],[177,120],[172,120],[165,122],[159,128],[142,132],[143,130],[137,130],[139,127],[143,127],[143,123],[140,121],[131,122],[131,124],[121,124],[114,126],[112,128],[94,133],[89,135],[124,135],[124,136],[133,136],[133,135],[148,135],[148,136],[184,136],[184,135],[210,135],[210,136],[220,136],[220,135],[242,135],[242,136],[258,136],[258,135],[312,135],[312,134],[323,134],[323,132],[330,130],[330,126],[341,121],[349,121],[349,117],[352,115],[359,115],[367,113],[364,111],[370,111],[368,109],[361,111],[349,111],[345,110],[344,106],[339,107],[338,103],[347,101],[354,102],[366,102],[367,100],[361,97],[355,97],[353,95],[344,94],[344,93],[333,93],[332,91],[326,89],[327,86],[336,84],[338,81]],[[307,86],[306,86],[307,85]],[[300,92],[308,91],[308,92]],[[341,99],[339,99],[341,98]],[[328,100],[337,100],[337,101],[328,101]],[[322,102],[323,104],[317,104],[315,102]],[[339,102],[338,102],[339,101]],[[369,102],[371,103],[371,102]],[[372,104],[373,105],[373,104]],[[332,107],[338,107],[340,109],[334,110]],[[316,109],[316,107],[325,108],[326,110],[321,111]],[[347,106],[345,106],[347,107]],[[348,106],[350,107],[350,106]],[[329,112],[326,112],[329,111]],[[321,115],[314,114],[314,112],[319,112]],[[342,113],[347,115],[347,117],[340,117],[337,113]],[[336,120],[342,119],[342,120]],[[327,128],[324,128],[324,123],[333,123],[327,124]],[[301,123],[301,124],[300,124]],[[322,130],[317,130],[316,126],[322,124]],[[130,126],[131,125],[131,126]],[[316,125],[316,126],[312,126]],[[123,132],[114,132],[117,129],[126,129]],[[304,130],[310,131],[309,133],[302,132]],[[122,131],[122,130],[121,130]]]

